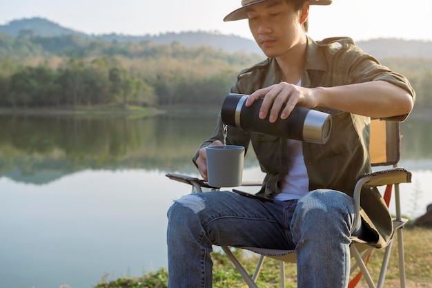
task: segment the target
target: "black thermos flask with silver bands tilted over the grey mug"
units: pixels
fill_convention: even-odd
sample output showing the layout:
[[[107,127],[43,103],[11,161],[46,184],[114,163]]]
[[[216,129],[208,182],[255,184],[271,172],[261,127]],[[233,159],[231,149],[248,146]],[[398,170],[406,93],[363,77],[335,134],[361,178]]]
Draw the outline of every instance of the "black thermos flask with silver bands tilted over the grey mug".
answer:
[[[246,107],[247,98],[248,95],[234,93],[226,96],[221,111],[224,124],[245,131],[317,144],[325,144],[330,137],[331,115],[327,113],[295,106],[288,118],[278,117],[276,122],[271,123],[268,122],[268,116],[266,119],[258,117],[262,99]]]

